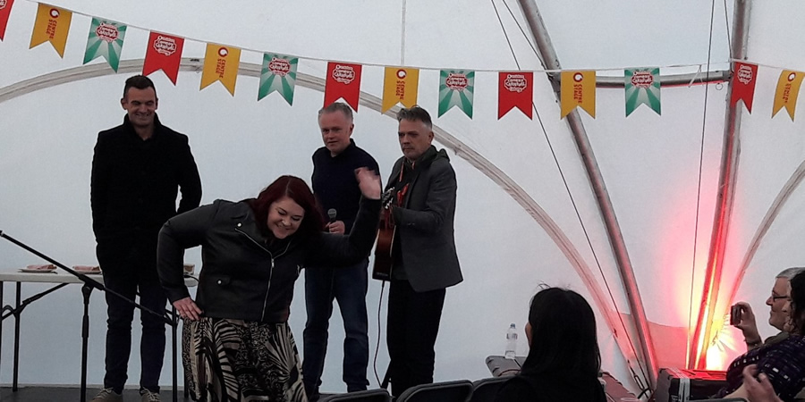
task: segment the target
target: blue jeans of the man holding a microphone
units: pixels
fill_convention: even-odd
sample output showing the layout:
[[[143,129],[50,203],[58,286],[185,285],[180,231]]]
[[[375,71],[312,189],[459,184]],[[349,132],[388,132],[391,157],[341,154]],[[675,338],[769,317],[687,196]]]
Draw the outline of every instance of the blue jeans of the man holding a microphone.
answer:
[[[318,398],[327,352],[327,329],[338,302],[343,318],[343,381],[347,391],[366,389],[369,365],[369,320],[366,291],[369,287],[369,259],[345,268],[306,268],[305,306],[308,321],[304,331],[302,379],[311,400]]]

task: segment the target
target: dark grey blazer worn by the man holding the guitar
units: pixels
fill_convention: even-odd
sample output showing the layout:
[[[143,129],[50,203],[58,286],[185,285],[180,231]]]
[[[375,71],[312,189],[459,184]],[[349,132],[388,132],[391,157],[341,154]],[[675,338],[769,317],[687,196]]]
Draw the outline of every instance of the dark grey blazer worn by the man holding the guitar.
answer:
[[[445,289],[463,280],[453,239],[455,215],[455,172],[444,155],[423,167],[411,182],[402,207],[392,208],[396,233],[400,239],[402,264],[418,292]],[[389,185],[402,169],[400,158],[394,163]]]

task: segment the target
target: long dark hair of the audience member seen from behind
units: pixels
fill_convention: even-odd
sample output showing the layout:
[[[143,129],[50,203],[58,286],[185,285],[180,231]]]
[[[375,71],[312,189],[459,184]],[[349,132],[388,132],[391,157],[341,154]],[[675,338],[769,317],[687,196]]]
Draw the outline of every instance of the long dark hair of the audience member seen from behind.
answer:
[[[529,323],[531,345],[522,373],[597,376],[596,317],[584,297],[568,289],[542,289],[531,299]]]

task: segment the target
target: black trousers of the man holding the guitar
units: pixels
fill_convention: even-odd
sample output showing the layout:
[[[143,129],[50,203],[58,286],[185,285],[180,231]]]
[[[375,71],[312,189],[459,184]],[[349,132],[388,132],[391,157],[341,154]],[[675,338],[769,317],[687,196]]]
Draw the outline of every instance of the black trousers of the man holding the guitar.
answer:
[[[445,289],[417,292],[408,281],[391,281],[386,343],[392,394],[433,382],[436,335],[445,306]]]

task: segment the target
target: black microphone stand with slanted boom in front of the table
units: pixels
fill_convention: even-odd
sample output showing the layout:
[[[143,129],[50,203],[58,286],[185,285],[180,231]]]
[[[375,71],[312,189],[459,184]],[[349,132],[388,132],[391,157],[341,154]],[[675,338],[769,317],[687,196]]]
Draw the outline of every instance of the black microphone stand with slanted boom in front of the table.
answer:
[[[148,307],[141,306],[140,304],[138,304],[134,300],[131,300],[128,297],[125,297],[125,296],[121,295],[120,293],[115,292],[114,290],[106,289],[106,287],[104,286],[103,283],[98,282],[98,281],[90,278],[89,276],[87,276],[87,275],[85,275],[83,273],[75,272],[74,270],[72,270],[72,268],[68,268],[66,265],[61,264],[58,261],[54,260],[53,258],[40,253],[38,250],[34,249],[33,247],[29,247],[28,245],[22,243],[20,240],[12,238],[11,236],[5,234],[3,232],[3,230],[0,230],[0,238],[6,239],[8,241],[11,241],[14,245],[29,251],[33,255],[37,255],[38,257],[44,259],[48,263],[54,264],[55,266],[63,269],[64,271],[69,272],[72,276],[78,278],[80,281],[84,282],[83,286],[81,286],[81,295],[83,295],[83,299],[84,299],[84,316],[83,316],[83,319],[82,319],[82,322],[81,322],[81,397],[80,397],[81,402],[83,402],[84,399],[87,398],[87,352],[88,352],[88,348],[89,348],[89,295],[91,294],[92,289],[98,289],[98,290],[100,290],[102,292],[106,292],[106,293],[109,293],[111,295],[114,295],[114,297],[119,297],[122,300],[125,300],[127,303],[131,304],[131,306],[139,308],[140,311],[143,312],[143,313],[157,315],[158,317],[160,317],[162,319],[162,321],[164,321],[166,324],[168,324],[168,325],[170,325],[170,326],[172,326],[174,328],[178,325],[178,322],[177,322],[177,320],[175,318],[175,314],[170,312],[170,311],[168,311],[168,310],[165,310],[162,314],[159,314],[159,313],[149,309]],[[55,290],[55,289],[51,289],[46,293],[49,293],[52,290]],[[44,295],[42,295],[42,296],[44,296]],[[35,299],[32,299],[30,301],[33,301],[33,300],[35,300]],[[19,314],[19,312],[17,312],[16,314]],[[173,316],[174,318],[168,318],[168,314],[172,314],[171,316]],[[5,318],[5,317],[3,317],[3,318]],[[175,335],[174,335],[174,337],[175,337]],[[174,348],[175,348],[175,345],[174,345]],[[175,350],[174,350],[174,361],[175,361]],[[178,399],[178,394],[177,394],[177,391],[176,391],[176,375],[175,375],[175,371],[176,370],[175,370],[175,366],[174,366],[174,402],[176,402],[177,399]]]

